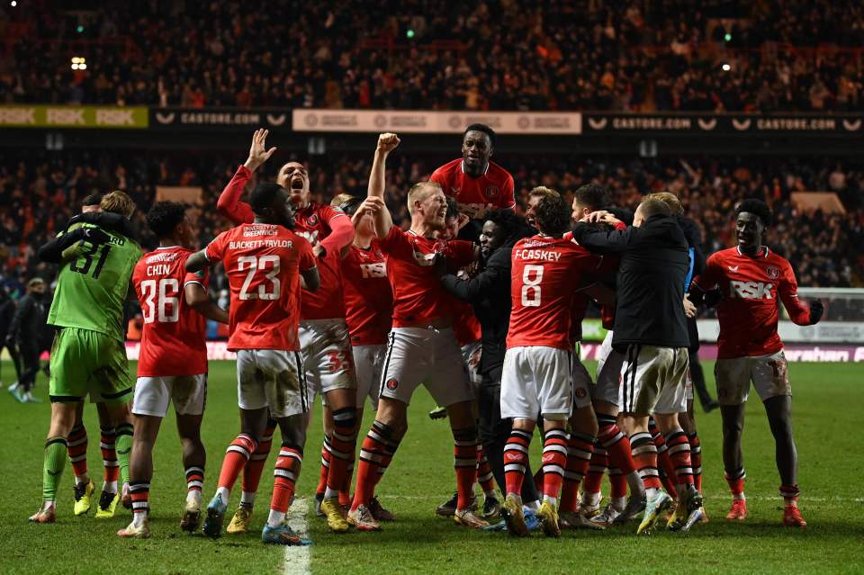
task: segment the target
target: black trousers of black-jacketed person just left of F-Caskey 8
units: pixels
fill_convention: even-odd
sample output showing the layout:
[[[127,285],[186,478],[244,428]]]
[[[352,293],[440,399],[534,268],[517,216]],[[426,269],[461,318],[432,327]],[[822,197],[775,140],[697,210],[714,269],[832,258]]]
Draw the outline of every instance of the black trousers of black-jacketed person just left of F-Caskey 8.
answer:
[[[480,441],[486,451],[486,459],[492,469],[492,475],[502,493],[507,493],[504,481],[504,446],[510,436],[511,419],[501,418],[501,382],[483,381],[477,395],[480,427]],[[525,481],[522,481],[522,501],[530,503],[539,501],[540,494],[534,485],[531,465],[525,468]]]

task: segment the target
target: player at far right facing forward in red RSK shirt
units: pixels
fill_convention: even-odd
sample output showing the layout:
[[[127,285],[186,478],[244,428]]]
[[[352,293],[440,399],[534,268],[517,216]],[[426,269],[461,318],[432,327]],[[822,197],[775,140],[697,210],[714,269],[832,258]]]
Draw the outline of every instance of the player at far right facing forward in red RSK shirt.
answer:
[[[783,523],[804,527],[807,524],[797,506],[792,388],[777,322],[780,302],[799,326],[812,326],[822,319],[823,304],[816,300],[808,306],[800,301],[792,266],[762,244],[771,221],[765,202],[744,200],[735,208],[735,217],[738,245],[710,256],[705,273],[694,280],[692,290],[697,300],[715,289],[719,289],[722,298],[717,305],[720,335],[715,377],[723,415],[725,476],[733,494],[732,508],[726,518],[747,517],[741,436],[744,403],[752,383],[765,406],[777,444],[780,495],[785,500]]]

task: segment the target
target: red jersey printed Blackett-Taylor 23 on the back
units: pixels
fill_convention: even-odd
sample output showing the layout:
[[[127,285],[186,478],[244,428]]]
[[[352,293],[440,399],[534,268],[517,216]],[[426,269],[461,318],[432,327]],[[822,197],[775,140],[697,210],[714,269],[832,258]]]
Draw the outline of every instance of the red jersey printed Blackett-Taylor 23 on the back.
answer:
[[[300,271],[316,265],[309,242],[282,226],[241,224],[205,253],[228,274],[229,350],[298,351]]]

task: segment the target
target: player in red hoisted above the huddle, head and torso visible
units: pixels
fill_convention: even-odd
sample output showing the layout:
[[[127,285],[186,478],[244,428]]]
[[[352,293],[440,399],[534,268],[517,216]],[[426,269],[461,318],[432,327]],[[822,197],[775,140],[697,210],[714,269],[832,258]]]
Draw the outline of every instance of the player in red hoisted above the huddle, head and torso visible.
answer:
[[[494,130],[485,124],[472,124],[462,136],[462,157],[438,167],[429,177],[441,184],[461,213],[477,222],[476,228],[468,229],[474,237],[480,234],[479,226],[487,211],[516,207],[513,176],[491,161],[494,150]]]

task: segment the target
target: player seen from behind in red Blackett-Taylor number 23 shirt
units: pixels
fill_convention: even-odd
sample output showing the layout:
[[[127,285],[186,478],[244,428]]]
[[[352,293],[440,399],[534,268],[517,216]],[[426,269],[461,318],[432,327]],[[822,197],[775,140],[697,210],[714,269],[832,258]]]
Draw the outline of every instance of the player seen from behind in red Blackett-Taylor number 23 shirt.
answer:
[[[309,411],[297,337],[300,278],[307,292],[317,290],[320,280],[309,242],[292,231],[289,193],[279,184],[257,184],[249,200],[253,223],[221,233],[186,260],[188,272],[216,262],[224,265],[231,289],[228,348],[237,352],[240,434],[222,461],[219,487],[207,506],[203,532],[220,535],[231,488],[256,451],[269,409],[282,431],[282,448],[276,459],[270,517],[261,539],[304,544],[284,525],[284,518],[300,476]]]

